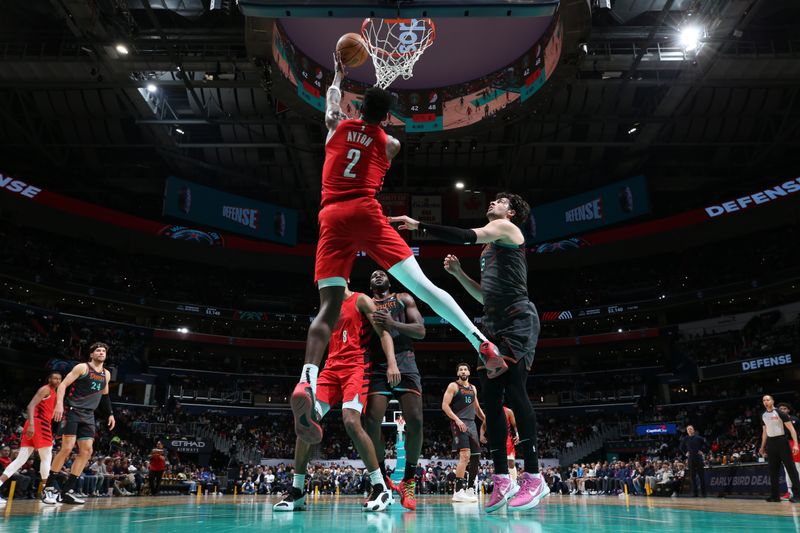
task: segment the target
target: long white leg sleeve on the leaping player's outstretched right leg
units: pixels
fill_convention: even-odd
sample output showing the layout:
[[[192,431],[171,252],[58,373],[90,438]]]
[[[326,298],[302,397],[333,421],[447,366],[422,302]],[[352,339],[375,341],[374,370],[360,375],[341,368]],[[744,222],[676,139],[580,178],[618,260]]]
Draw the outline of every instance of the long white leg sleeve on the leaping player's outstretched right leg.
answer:
[[[467,338],[475,351],[480,349],[481,343],[486,342],[486,337],[478,330],[475,324],[467,317],[450,294],[434,285],[425,276],[414,256],[404,259],[389,269],[389,274],[397,281],[428,304],[440,317],[447,320],[454,328]]]

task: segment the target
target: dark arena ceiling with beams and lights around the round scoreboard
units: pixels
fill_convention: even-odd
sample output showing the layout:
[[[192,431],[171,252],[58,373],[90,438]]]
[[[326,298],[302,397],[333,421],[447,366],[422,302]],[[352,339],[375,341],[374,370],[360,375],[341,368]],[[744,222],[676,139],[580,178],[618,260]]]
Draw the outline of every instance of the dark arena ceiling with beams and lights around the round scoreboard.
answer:
[[[797,2],[593,4],[591,36],[565,50],[559,85],[519,116],[402,136],[387,189],[443,192],[461,179],[544,201],[645,174],[667,212],[796,173]],[[692,54],[677,42],[688,24],[705,31]],[[174,174],[310,220],[323,125],[273,94],[265,27],[225,0],[7,3],[1,170],[152,216]]]

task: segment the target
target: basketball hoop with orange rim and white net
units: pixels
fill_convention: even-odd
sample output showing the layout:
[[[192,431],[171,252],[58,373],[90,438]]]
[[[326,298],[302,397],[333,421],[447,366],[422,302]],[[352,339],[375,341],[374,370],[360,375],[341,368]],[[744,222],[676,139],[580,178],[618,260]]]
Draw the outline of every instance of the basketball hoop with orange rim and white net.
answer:
[[[409,79],[414,64],[436,39],[431,19],[364,19],[361,36],[375,65],[377,85],[387,88],[398,77]]]

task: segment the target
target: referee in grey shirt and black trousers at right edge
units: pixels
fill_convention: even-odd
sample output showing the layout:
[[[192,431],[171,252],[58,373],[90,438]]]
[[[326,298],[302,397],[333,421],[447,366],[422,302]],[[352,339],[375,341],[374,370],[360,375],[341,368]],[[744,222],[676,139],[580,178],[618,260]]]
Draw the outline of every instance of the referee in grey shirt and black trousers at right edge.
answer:
[[[786,440],[786,432],[792,436],[794,442],[794,452],[798,451],[797,433],[794,430],[794,424],[788,415],[785,415],[778,409],[775,409],[775,399],[769,394],[765,394],[761,399],[766,411],[761,415],[761,449],[759,452],[762,456],[767,458],[769,463],[769,481],[770,481],[770,497],[767,498],[768,502],[780,502],[778,494],[778,474],[781,465],[789,473],[789,479],[792,481],[792,486],[800,487],[800,479],[797,476],[797,469],[792,468],[794,461],[792,460],[792,450],[789,449],[789,442]],[[792,503],[800,503],[800,498],[792,496],[789,499]]]

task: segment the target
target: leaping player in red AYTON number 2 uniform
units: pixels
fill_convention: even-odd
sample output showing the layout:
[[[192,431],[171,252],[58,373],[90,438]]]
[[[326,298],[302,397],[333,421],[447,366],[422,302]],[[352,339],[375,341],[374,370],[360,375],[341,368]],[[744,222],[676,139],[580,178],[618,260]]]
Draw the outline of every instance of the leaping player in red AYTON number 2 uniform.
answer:
[[[492,373],[508,367],[494,344],[475,327],[453,297],[436,287],[422,273],[411,248],[389,225],[375,196],[383,186],[386,171],[400,151],[400,142],[381,127],[391,107],[391,95],[372,87],[364,94],[361,118],[351,120],[340,107],[339,88],[345,72],[338,56],[336,74],[328,88],[325,125],[325,164],[322,169],[322,202],[314,281],[319,287],[320,306],[306,340],[305,365],[291,405],[297,436],[309,444],[322,440],[322,428],[313,414],[317,374],[325,346],[339,318],[345,280],[350,277],[356,253],[364,251],[427,303],[439,316],[458,329],[478,351]]]

